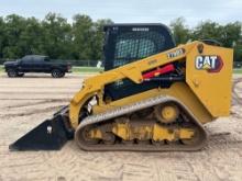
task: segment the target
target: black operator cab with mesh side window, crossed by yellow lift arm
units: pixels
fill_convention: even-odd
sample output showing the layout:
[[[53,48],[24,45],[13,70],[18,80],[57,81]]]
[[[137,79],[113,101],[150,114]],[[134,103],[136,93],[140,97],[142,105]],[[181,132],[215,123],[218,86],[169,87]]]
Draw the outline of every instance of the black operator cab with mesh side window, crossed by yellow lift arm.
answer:
[[[175,47],[170,31],[163,24],[111,24],[105,32],[106,71]],[[158,82],[144,86],[123,79],[106,86],[105,97],[119,100],[155,87]]]

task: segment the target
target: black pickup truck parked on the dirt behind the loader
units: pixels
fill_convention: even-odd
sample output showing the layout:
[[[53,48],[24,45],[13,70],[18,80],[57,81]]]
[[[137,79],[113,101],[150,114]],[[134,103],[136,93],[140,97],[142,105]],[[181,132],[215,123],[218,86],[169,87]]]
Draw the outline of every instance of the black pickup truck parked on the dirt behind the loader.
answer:
[[[72,69],[68,63],[52,61],[47,56],[42,55],[26,55],[14,61],[6,61],[3,65],[9,77],[23,77],[25,72],[46,72],[59,78]]]

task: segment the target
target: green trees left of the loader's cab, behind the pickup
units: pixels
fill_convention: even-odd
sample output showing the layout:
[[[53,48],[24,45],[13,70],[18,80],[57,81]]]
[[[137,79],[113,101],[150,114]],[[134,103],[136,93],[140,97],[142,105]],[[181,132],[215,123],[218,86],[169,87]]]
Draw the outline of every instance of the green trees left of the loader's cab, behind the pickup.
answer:
[[[42,21],[16,14],[0,18],[0,58],[41,54],[54,59],[101,59],[102,27],[110,23],[82,14],[76,14],[72,23],[56,13]]]

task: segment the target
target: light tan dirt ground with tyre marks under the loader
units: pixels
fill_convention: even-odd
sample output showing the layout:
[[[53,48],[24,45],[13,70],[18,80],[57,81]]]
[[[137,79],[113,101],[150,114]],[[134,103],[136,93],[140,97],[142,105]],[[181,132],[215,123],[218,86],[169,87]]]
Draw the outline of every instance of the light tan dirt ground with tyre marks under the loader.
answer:
[[[10,79],[0,75],[0,181],[242,180],[242,108],[207,124],[208,145],[195,152],[88,152],[74,142],[59,151],[9,151],[13,140],[68,103],[81,76]],[[242,83],[237,87],[242,95]]]

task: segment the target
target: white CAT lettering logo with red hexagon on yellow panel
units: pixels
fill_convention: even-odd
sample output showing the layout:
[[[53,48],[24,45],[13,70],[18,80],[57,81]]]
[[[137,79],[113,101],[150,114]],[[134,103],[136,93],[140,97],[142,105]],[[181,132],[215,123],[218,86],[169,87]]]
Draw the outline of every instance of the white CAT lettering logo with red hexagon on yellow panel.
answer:
[[[208,70],[208,72],[219,72],[222,66],[222,59],[217,55],[197,56],[195,60],[196,69]]]

